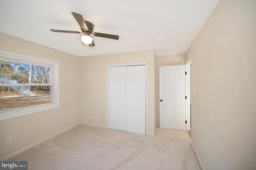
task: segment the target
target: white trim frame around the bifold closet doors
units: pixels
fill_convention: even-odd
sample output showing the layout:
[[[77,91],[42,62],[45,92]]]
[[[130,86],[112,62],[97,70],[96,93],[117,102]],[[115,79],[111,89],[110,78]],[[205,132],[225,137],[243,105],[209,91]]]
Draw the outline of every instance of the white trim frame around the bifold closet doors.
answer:
[[[122,66],[146,65],[146,135],[148,135],[148,63],[122,63],[107,65],[107,128],[109,129],[109,84],[108,84],[108,68]]]

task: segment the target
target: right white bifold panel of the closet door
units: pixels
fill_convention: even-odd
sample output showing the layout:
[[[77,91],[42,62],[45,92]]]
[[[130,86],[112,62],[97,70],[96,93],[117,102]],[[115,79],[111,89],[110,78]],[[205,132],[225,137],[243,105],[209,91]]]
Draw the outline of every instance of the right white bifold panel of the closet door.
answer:
[[[146,134],[146,65],[126,67],[126,131]]]

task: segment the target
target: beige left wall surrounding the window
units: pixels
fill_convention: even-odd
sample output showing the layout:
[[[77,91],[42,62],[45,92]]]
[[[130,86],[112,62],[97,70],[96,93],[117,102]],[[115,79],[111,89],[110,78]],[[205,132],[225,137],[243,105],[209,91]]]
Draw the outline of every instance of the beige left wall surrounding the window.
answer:
[[[0,121],[0,160],[4,156],[38,142],[78,123],[80,57],[0,33],[0,50],[59,61],[60,107]],[[12,142],[6,144],[7,136]]]

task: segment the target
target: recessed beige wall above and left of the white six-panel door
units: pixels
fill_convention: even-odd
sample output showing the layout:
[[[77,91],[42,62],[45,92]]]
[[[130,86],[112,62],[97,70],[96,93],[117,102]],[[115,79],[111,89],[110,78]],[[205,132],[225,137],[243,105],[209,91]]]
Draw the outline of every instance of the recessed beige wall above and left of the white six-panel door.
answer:
[[[159,67],[185,64],[185,53],[156,56],[156,126],[159,127]]]

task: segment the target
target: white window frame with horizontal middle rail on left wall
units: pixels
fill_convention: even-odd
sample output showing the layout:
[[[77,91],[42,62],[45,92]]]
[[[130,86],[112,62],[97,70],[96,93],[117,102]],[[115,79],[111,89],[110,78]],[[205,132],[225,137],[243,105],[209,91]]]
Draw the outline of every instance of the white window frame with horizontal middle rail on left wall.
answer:
[[[24,84],[24,86],[28,85],[51,85],[52,86],[52,97],[51,103],[45,103],[40,105],[33,105],[33,106],[27,106],[27,107],[19,107],[15,109],[8,109],[4,111],[0,111],[0,121],[5,119],[11,119],[14,117],[29,115],[32,113],[37,113],[40,111],[46,111],[49,109],[55,109],[59,107],[59,62],[58,61],[52,61],[48,59],[42,59],[38,57],[32,57],[28,55],[22,55],[17,53],[11,53],[8,51],[1,51],[0,50],[0,60],[5,61],[14,61],[14,62],[20,62],[20,63],[28,63],[28,64],[35,64],[35,65],[44,65],[51,67],[51,83],[45,84]],[[12,86],[15,86],[15,84],[12,84]],[[19,84],[20,85],[20,84]],[[23,85],[23,84],[22,84]],[[4,85],[1,84],[1,86],[10,86],[10,84]]]

